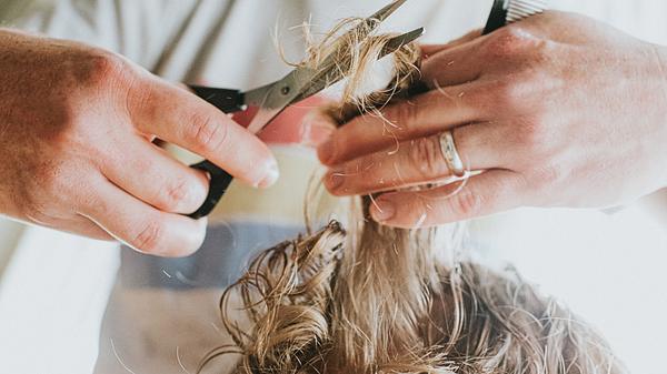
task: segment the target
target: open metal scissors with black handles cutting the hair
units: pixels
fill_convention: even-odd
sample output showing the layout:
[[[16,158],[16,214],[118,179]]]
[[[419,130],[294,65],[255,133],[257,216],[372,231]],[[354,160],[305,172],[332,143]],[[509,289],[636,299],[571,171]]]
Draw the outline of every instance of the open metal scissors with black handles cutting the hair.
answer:
[[[257,107],[259,111],[251,120],[248,130],[258,134],[286,108],[308,99],[345,79],[347,72],[337,64],[338,55],[340,55],[339,51],[341,48],[345,48],[342,40],[346,40],[345,38],[352,33],[357,36],[358,40],[369,38],[371,32],[406,3],[406,1],[396,0],[391,2],[375,14],[366,18],[354,30],[348,31],[337,39],[332,52],[325,57],[317,69],[299,67],[277,82],[247,92],[199,85],[191,85],[190,89],[198,97],[225,113],[241,112],[246,111],[249,107]],[[417,40],[422,34],[424,28],[419,28],[395,37],[386,44],[378,58],[384,58],[398,51],[401,47]],[[210,161],[202,161],[191,168],[206,171],[210,175],[210,188],[205,203],[197,212],[189,214],[192,219],[200,219],[212,212],[227,192],[233,178]]]

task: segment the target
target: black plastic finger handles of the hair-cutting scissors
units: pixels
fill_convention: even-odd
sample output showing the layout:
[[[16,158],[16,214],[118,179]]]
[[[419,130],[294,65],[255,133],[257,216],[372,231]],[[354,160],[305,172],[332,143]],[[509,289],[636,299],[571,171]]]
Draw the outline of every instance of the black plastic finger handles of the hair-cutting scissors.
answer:
[[[240,112],[246,109],[243,93],[239,90],[213,89],[208,87],[190,85],[190,89],[201,99],[225,113]],[[199,220],[209,215],[231,184],[233,176],[210,161],[202,161],[190,168],[206,171],[210,175],[209,193],[203,204],[189,218]]]

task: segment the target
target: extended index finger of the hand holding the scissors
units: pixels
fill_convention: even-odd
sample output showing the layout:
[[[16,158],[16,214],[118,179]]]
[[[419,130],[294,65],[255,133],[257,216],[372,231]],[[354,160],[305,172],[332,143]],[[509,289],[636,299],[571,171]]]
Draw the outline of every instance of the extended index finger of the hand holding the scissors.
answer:
[[[180,145],[255,186],[278,179],[269,148],[228,114],[187,90],[151,77],[129,98],[135,127]]]

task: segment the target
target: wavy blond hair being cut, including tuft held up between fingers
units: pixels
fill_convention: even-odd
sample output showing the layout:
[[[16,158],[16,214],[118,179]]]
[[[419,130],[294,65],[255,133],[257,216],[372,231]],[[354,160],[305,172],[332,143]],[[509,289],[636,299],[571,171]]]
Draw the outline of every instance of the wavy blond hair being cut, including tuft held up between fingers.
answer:
[[[303,63],[317,67],[331,38]],[[341,104],[327,110],[341,125],[397,100],[419,78],[419,49],[405,46],[389,88],[356,99],[390,38],[347,38],[340,67],[350,78]],[[248,374],[625,372],[594,328],[555,299],[514,269],[492,270],[464,251],[460,230],[387,228],[369,218],[372,203],[352,200],[347,230],[332,221],[261,253],[220,301],[233,345],[212,351],[200,370],[237,354],[237,372]]]

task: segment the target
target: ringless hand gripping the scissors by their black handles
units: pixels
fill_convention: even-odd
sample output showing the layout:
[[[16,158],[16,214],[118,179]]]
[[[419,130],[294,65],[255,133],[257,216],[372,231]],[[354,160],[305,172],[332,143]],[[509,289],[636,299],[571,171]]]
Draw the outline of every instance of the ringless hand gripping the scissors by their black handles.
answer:
[[[208,179],[156,146],[181,145],[256,186],[268,148],[212,105],[87,46],[0,30],[0,213],[146,253],[196,251]]]

